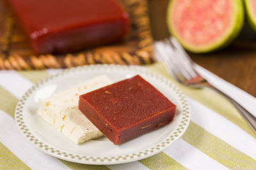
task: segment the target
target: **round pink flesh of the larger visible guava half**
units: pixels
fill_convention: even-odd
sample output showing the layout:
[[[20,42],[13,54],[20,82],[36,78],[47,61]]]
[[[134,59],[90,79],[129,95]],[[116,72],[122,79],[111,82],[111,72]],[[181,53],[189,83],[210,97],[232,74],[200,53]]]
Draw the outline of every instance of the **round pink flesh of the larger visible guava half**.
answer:
[[[225,35],[232,13],[231,0],[179,0],[173,6],[173,27],[186,43],[207,45]]]

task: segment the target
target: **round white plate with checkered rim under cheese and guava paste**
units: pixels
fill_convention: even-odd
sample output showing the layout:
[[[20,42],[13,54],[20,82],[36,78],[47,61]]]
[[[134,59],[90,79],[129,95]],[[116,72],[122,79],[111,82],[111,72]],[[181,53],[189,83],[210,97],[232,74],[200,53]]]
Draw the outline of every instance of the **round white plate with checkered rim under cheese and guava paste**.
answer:
[[[173,121],[121,145],[114,145],[105,137],[76,145],[36,113],[38,99],[49,97],[100,74],[106,74],[113,82],[140,74],[177,105]],[[24,94],[15,110],[15,121],[20,131],[42,152],[71,162],[98,165],[132,162],[159,153],[184,134],[189,120],[189,105],[184,94],[162,76],[138,66],[95,65],[67,69],[36,83]]]

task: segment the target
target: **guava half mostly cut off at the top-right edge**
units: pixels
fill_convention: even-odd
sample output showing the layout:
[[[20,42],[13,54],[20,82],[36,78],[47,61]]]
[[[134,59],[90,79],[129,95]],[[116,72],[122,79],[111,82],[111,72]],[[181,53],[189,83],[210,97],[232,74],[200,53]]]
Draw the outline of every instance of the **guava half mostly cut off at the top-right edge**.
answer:
[[[256,1],[255,0],[244,0],[246,8],[246,21],[256,31]]]

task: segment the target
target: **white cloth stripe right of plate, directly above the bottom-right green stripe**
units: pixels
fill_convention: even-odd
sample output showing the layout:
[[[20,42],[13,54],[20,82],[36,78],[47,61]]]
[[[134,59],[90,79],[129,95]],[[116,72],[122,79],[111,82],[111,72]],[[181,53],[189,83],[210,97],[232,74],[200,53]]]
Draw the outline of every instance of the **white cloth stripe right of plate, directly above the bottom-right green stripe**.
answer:
[[[188,97],[191,120],[214,136],[256,160],[256,140],[236,124]]]

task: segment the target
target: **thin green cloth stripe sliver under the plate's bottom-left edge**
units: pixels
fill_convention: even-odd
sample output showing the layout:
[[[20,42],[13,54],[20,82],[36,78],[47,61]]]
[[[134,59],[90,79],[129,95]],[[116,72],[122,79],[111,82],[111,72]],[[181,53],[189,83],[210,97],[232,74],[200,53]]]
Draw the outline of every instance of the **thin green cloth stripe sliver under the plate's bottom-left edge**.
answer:
[[[74,170],[79,170],[79,169],[109,170],[109,168],[106,167],[106,166],[93,166],[93,165],[86,165],[86,164],[78,164],[78,163],[74,163],[74,162],[68,162],[67,160],[61,160],[61,162],[63,162],[63,164],[65,164],[66,166],[68,166],[68,167],[70,167],[71,169],[74,169]]]

